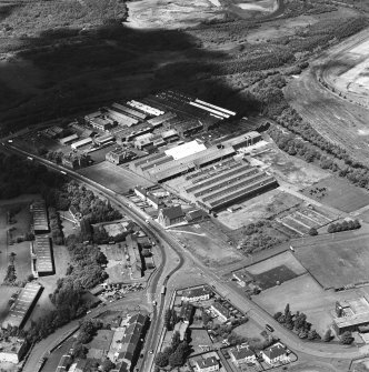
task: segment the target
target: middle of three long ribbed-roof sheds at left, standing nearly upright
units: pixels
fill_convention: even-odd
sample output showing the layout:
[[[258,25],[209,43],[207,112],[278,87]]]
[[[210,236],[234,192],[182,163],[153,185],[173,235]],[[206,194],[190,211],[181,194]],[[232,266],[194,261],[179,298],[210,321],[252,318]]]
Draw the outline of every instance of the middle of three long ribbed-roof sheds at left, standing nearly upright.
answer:
[[[31,242],[32,272],[36,278],[54,273],[49,237],[36,237]]]

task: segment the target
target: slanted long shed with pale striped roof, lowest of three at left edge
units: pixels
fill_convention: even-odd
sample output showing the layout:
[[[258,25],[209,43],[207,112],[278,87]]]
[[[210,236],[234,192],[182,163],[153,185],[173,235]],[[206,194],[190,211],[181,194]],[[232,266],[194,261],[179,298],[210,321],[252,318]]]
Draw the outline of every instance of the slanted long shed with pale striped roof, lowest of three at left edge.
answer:
[[[2,322],[1,326],[7,329],[9,325],[11,325],[21,329],[24,325],[33,305],[36,304],[41,290],[42,286],[38,283],[27,283],[19,293],[16,302],[12,304],[9,314]]]

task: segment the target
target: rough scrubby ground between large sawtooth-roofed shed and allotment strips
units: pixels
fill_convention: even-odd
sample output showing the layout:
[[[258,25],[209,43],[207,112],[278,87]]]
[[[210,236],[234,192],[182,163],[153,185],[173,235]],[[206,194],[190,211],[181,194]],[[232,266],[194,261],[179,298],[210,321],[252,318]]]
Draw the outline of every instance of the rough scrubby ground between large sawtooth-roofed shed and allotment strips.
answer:
[[[218,213],[218,220],[227,228],[236,230],[249,223],[255,223],[260,219],[270,219],[299,203],[301,203],[301,199],[275,189],[239,203],[241,209],[238,211]]]

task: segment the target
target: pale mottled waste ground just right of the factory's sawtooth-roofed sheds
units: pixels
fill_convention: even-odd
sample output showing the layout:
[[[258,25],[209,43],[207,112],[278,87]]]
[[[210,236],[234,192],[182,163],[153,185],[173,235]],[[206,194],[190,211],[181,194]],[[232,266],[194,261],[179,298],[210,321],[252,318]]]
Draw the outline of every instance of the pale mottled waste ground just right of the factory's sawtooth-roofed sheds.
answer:
[[[253,158],[256,162],[259,162],[259,165],[261,164],[265,170],[272,173],[278,181],[281,180],[299,188],[306,188],[329,177],[329,173],[319,167],[308,164],[297,157],[291,157],[276,145]]]

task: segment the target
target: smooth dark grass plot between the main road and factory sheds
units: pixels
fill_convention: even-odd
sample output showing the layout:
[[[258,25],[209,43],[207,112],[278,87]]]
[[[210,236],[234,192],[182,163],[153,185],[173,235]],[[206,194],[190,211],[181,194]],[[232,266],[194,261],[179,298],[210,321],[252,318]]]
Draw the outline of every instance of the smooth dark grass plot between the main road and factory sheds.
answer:
[[[128,193],[129,189],[133,189],[138,184],[143,188],[153,185],[152,182],[146,180],[143,177],[108,161],[84,168],[79,173],[120,193]]]

